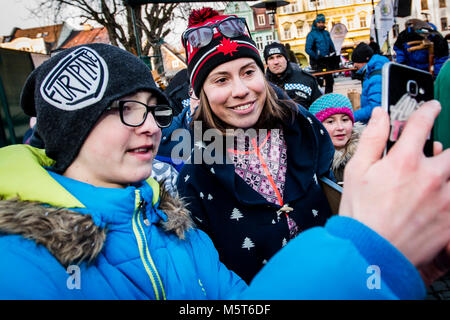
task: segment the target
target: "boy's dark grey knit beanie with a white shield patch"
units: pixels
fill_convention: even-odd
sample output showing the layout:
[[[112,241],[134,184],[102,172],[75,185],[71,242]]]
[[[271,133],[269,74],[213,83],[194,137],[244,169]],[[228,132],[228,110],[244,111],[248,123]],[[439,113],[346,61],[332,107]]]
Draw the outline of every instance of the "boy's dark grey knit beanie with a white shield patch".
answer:
[[[52,168],[63,173],[104,110],[123,96],[146,90],[169,104],[145,63],[118,47],[93,43],[66,49],[28,77],[20,104],[37,117],[37,132]]]

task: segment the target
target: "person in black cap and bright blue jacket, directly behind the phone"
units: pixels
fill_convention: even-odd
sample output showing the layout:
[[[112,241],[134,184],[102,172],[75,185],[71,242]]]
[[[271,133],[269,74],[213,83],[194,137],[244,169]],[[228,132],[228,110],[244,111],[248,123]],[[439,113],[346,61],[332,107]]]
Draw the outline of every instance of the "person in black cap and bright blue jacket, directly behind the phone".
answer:
[[[364,42],[359,43],[352,53],[353,65],[358,68],[358,78],[362,81],[361,108],[354,112],[355,121],[366,124],[372,110],[381,106],[381,70],[389,59],[373,54]]]

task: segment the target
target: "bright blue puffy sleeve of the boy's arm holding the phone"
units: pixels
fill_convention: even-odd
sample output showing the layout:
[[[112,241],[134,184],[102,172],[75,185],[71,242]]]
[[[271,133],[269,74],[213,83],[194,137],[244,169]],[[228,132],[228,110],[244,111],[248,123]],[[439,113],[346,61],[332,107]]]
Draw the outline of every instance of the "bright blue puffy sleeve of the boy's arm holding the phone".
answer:
[[[377,233],[346,217],[291,240],[242,299],[423,299],[417,269]]]

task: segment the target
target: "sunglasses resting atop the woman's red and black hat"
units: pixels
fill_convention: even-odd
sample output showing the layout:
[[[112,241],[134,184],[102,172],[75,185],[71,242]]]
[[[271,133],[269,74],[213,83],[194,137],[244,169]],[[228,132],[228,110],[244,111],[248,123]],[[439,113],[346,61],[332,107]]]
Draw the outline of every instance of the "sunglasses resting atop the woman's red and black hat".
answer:
[[[245,18],[231,17],[218,23],[188,29],[181,36],[183,46],[187,47],[187,42],[194,48],[202,48],[211,43],[214,36],[214,28],[227,38],[235,38],[241,35],[251,37]]]

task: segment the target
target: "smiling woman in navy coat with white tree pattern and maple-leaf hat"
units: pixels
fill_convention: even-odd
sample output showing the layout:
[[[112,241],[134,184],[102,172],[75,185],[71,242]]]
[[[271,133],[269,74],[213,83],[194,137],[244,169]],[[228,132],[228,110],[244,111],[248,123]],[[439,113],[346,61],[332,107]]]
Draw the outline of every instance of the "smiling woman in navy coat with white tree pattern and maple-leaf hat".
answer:
[[[193,124],[216,129],[226,142],[214,150],[221,161],[185,165],[178,188],[221,260],[250,282],[290,239],[330,217],[318,178],[331,177],[333,146],[313,115],[278,100],[247,28],[196,39],[196,31],[215,30],[236,17],[208,9],[191,17],[183,44],[200,97]]]

